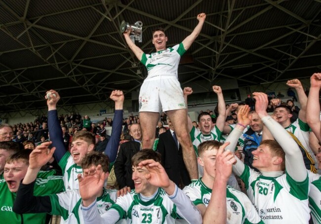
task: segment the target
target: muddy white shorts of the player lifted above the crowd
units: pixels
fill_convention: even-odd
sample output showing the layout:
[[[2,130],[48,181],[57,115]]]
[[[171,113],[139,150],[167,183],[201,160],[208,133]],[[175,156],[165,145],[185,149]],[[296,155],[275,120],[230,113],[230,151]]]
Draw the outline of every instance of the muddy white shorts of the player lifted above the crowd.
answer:
[[[145,79],[139,92],[139,112],[166,112],[186,109],[183,90],[174,75]]]

